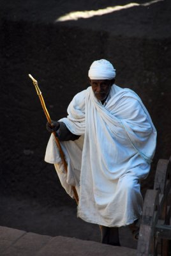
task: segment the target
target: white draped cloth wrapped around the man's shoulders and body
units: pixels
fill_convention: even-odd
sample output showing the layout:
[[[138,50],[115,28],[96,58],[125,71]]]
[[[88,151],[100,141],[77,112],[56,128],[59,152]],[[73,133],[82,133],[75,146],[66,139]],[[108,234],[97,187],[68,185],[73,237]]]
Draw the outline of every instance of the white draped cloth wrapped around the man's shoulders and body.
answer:
[[[130,214],[125,216],[121,211],[118,216],[113,209],[119,207],[115,201],[122,202],[125,205],[122,212],[131,212],[133,218],[140,214],[138,204],[135,211],[129,209],[127,199],[121,195],[122,188],[117,188],[118,180],[124,175],[137,179],[147,177],[156,148],[156,129],[135,92],[114,84],[109,96],[103,106],[89,87],[75,95],[68,106],[67,118],[60,120],[73,134],[82,135],[77,141],[61,143],[68,161],[68,175],[63,173],[63,166],[57,167],[56,163],[61,160],[53,137],[48,142],[45,161],[55,164],[70,196],[73,196],[70,185],[76,186],[80,218],[118,227],[132,220]]]

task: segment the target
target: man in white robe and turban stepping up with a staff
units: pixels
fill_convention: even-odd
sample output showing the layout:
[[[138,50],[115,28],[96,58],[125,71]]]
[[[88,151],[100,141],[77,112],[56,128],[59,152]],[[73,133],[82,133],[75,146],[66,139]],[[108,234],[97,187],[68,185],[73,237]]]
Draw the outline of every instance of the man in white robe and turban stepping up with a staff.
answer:
[[[45,161],[55,164],[70,196],[76,187],[78,217],[100,225],[102,243],[119,245],[118,227],[133,225],[142,212],[139,180],[149,173],[156,129],[138,95],[115,84],[109,61],[94,61],[89,81],[73,97],[68,116],[47,124],[61,140],[68,174],[53,136]]]

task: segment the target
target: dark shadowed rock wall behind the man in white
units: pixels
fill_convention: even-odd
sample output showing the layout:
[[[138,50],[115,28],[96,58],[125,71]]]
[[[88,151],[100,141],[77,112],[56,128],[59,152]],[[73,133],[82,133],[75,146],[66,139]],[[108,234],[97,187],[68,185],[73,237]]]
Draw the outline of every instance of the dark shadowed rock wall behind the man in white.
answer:
[[[158,159],[171,154],[170,37],[115,36],[77,26],[5,19],[0,29],[1,193],[72,204],[54,167],[44,162],[49,134],[28,74],[38,80],[56,120],[66,115],[73,95],[89,86],[87,70],[100,58],[114,64],[117,85],[138,93],[158,130],[152,172],[142,182],[143,189],[151,188]]]

